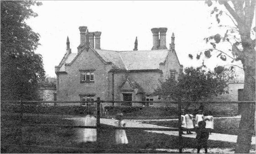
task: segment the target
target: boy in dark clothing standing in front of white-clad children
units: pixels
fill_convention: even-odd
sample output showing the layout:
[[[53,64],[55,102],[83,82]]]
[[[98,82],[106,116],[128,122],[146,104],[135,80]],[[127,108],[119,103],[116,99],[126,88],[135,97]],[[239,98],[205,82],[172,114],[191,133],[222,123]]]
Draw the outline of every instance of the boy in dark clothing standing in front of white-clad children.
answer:
[[[197,129],[197,154],[199,154],[201,147],[203,146],[205,150],[205,154],[207,154],[207,140],[209,138],[209,132],[205,128],[205,121],[198,122],[198,129]]]

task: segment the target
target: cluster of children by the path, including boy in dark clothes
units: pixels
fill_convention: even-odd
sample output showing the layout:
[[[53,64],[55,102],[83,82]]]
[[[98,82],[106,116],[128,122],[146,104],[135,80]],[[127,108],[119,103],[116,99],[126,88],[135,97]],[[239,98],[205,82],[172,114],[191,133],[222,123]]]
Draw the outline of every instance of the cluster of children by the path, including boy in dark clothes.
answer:
[[[200,152],[201,147],[205,149],[205,153],[207,153],[207,140],[209,138],[209,134],[213,131],[213,116],[211,112],[208,112],[208,115],[204,116],[202,110],[198,110],[195,123],[193,122],[193,115],[187,111],[182,110],[181,114],[181,127],[187,129],[187,134],[192,134],[191,129],[196,129],[196,139],[197,139],[197,153]],[[184,134],[183,131],[181,134]]]

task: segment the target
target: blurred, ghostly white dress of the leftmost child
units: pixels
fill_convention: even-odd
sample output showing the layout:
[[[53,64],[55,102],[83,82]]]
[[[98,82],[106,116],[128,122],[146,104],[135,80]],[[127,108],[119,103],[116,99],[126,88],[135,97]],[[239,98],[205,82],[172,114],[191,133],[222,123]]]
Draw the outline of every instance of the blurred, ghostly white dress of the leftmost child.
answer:
[[[94,116],[86,115],[85,126],[96,126],[96,118]],[[83,133],[83,142],[96,142],[97,130],[94,128],[85,128]]]

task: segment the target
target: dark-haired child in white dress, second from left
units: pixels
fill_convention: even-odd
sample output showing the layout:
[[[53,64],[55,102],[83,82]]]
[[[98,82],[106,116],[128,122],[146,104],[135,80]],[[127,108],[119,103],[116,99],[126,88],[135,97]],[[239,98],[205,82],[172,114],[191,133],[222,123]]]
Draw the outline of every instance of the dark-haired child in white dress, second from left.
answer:
[[[118,113],[116,115],[115,125],[116,127],[125,127],[125,123],[123,121],[123,113]],[[125,130],[116,129],[116,144],[128,144],[128,139],[126,137]]]

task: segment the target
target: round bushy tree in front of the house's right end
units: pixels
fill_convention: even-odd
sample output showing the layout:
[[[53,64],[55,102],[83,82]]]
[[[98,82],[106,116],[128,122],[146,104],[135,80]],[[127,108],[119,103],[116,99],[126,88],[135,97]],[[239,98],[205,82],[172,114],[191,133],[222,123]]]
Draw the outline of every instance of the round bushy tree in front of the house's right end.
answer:
[[[177,81],[169,77],[165,82],[161,82],[160,87],[155,90],[155,95],[175,101],[200,101],[228,93],[226,87],[233,75],[231,68],[216,67],[214,71],[210,71],[205,65],[197,68],[187,67],[180,71]],[[203,105],[201,103],[200,109],[203,109]],[[187,109],[189,106],[190,103],[187,103],[183,108]]]

